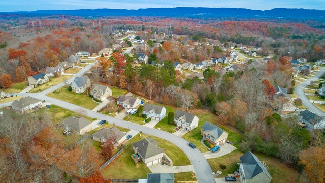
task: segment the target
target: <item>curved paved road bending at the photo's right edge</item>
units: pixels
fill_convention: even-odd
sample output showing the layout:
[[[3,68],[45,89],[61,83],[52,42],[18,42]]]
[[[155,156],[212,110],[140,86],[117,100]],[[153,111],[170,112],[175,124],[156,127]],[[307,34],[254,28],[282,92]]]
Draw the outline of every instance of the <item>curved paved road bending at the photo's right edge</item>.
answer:
[[[304,104],[304,106],[306,106],[308,108],[308,110],[310,110],[311,112],[324,117],[325,116],[325,112],[323,112],[322,110],[318,109],[316,106],[314,106],[309,98],[305,95],[305,91],[304,89],[307,87],[307,84],[310,83],[310,81],[316,81],[317,79],[320,78],[321,75],[323,75],[325,73],[325,67],[322,67],[320,69],[320,71],[313,77],[306,79],[305,81],[301,82],[299,85],[297,85],[295,87],[295,94],[297,95],[297,98],[300,98]]]

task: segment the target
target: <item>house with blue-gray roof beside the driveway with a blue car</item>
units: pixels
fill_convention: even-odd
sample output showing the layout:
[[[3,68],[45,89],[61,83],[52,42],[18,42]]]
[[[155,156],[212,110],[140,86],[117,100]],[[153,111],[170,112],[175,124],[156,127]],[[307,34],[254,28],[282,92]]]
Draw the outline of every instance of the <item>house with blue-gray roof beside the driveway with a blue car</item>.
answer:
[[[216,146],[226,143],[228,139],[228,132],[225,132],[219,127],[212,125],[209,122],[206,122],[201,127],[201,136],[203,137],[203,139]]]

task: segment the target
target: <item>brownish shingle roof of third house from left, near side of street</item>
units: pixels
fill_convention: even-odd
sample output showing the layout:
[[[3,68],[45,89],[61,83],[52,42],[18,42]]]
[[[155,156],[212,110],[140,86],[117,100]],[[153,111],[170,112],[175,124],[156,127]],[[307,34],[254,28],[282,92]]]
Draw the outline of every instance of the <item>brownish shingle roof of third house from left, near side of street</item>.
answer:
[[[101,128],[99,131],[92,134],[93,137],[102,138],[105,140],[113,137],[115,139],[115,143],[120,140],[122,137],[126,135],[125,132],[120,131],[118,128]]]

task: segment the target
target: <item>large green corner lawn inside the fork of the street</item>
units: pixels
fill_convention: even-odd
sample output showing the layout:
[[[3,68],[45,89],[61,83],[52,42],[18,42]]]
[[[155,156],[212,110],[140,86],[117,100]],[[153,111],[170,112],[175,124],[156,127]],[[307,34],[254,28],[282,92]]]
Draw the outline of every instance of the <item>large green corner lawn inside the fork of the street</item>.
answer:
[[[93,109],[98,106],[98,103],[93,102],[91,98],[87,96],[86,93],[77,94],[72,91],[68,91],[68,87],[69,86],[61,87],[58,90],[55,90],[54,92],[48,93],[47,95],[49,97],[67,101],[72,104],[85,107],[87,109]]]

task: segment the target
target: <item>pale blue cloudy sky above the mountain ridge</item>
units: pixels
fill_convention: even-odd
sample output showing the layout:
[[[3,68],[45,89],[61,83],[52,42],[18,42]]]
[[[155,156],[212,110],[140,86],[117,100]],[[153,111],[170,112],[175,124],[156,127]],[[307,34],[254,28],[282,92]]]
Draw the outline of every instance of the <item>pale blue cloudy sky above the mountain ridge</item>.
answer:
[[[75,9],[139,9],[170,7],[325,9],[325,0],[0,0],[0,12]]]

